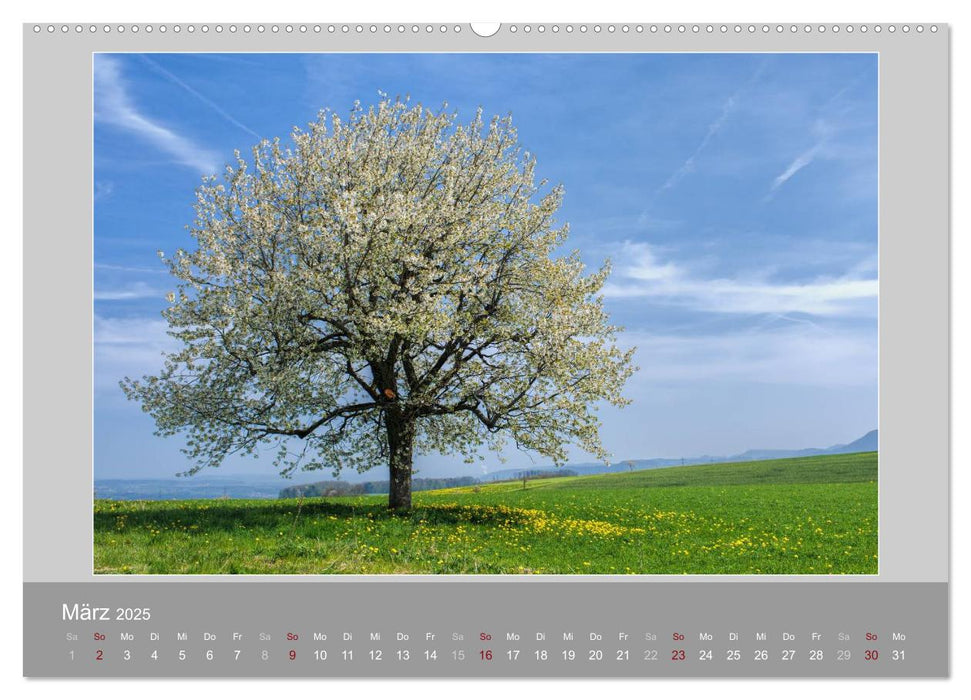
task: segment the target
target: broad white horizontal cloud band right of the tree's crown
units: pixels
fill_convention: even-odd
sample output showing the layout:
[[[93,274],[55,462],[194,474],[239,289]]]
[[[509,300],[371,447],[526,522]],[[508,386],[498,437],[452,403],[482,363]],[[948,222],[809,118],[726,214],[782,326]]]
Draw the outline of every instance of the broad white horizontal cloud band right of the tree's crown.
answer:
[[[841,277],[811,282],[772,282],[758,276],[706,279],[659,259],[646,243],[626,243],[617,256],[619,281],[608,282],[613,299],[650,298],[697,311],[747,314],[805,313],[816,316],[872,316],[879,283],[857,267]]]

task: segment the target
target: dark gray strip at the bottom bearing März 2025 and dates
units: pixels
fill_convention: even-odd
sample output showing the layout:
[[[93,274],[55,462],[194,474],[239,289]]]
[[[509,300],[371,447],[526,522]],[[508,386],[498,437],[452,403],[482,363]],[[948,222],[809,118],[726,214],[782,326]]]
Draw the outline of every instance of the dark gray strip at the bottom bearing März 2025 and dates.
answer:
[[[295,582],[287,586],[286,596],[279,595],[280,585],[132,586],[118,580],[24,584],[24,613],[30,620],[24,625],[24,675],[915,678],[945,677],[949,671],[946,583],[729,582],[700,592],[679,582],[628,580],[614,584],[604,596],[603,586],[591,581],[540,588],[477,581],[444,588],[409,586],[399,594],[407,595],[407,605],[375,582],[335,581],[326,590]],[[65,619],[65,607],[75,604],[101,608],[105,615]],[[150,619],[111,619],[118,617],[118,608],[147,609]],[[98,639],[96,632],[102,635]],[[296,638],[287,640],[286,632]],[[260,633],[268,638],[261,640]],[[319,641],[314,633],[321,635]],[[490,638],[483,639],[482,633]],[[572,633],[572,639],[564,633]],[[645,633],[654,638],[648,640]],[[682,635],[680,640],[674,633]],[[761,638],[756,636],[760,633]],[[628,647],[629,659],[613,656],[618,646]],[[665,658],[672,646],[683,647],[684,664]],[[433,663],[422,660],[423,648],[429,647],[438,650]],[[588,663],[594,659],[587,653],[598,647],[603,659]],[[643,663],[645,647],[658,652],[656,663]],[[729,661],[725,652],[731,647],[744,656]],[[238,659],[234,648],[242,654]],[[324,648],[329,662],[315,663],[314,648]],[[385,655],[380,663],[369,660],[368,650],[375,648]],[[402,648],[409,649],[406,663],[396,659],[395,650]],[[705,648],[714,653],[699,663],[699,651]],[[753,663],[753,652],[760,648],[768,653],[766,662]],[[822,652],[815,660],[813,648]],[[877,652],[878,658],[871,659],[876,663],[866,660],[867,648]],[[99,649],[103,663],[95,660]],[[179,649],[186,654],[184,660],[177,656]],[[288,659],[291,649],[296,663]],[[353,658],[342,660],[341,649],[351,649]],[[457,649],[465,651],[465,661],[451,656]],[[493,654],[490,663],[480,660],[485,649]],[[521,652],[514,663],[507,656],[510,649]],[[539,649],[548,651],[545,662],[534,656]],[[560,656],[566,649],[576,652],[574,661]],[[785,660],[780,658],[782,649],[795,653]],[[839,660],[839,649],[850,652],[845,659],[849,663]],[[904,658],[895,659],[894,649],[903,651]]]

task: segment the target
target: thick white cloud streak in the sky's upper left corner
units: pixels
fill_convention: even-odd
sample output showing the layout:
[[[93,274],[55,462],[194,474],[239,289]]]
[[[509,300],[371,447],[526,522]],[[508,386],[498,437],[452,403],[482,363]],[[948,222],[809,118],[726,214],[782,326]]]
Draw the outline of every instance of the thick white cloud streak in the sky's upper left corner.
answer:
[[[99,54],[94,60],[95,120],[130,131],[176,162],[204,174],[220,169],[217,155],[139,111],[125,87],[118,59]]]

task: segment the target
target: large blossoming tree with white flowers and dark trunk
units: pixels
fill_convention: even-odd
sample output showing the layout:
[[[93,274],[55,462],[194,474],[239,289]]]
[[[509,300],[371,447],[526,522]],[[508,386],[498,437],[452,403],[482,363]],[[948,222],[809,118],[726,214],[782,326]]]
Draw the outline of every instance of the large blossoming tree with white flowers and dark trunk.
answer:
[[[605,457],[596,406],[627,403],[632,351],[607,265],[556,255],[562,190],[534,168],[510,118],[389,99],[237,152],[198,191],[196,250],[166,258],[180,349],[122,388],[186,434],[190,473],[268,447],[284,473],[387,464],[394,510],[416,451]]]

